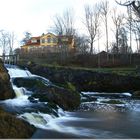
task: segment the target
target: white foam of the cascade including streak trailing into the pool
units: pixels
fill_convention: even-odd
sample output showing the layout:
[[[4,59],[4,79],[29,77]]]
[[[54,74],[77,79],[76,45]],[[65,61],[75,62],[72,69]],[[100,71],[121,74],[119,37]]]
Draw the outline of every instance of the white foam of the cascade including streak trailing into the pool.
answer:
[[[17,77],[32,77],[34,75],[32,75],[28,70],[22,70],[19,69],[17,67],[8,67],[8,73],[10,75],[11,78],[17,78]],[[39,77],[39,76],[38,76]],[[42,80],[46,80],[45,78],[41,77]],[[26,104],[31,104],[28,100],[28,96],[25,95],[27,91],[24,87],[17,87],[16,85],[14,85],[12,83],[13,89],[15,91],[16,94],[16,99],[10,99],[7,100],[7,104],[11,104],[12,106],[25,106]],[[30,124],[36,126],[37,128],[41,128],[41,129],[54,129],[58,132],[64,132],[64,133],[71,133],[71,134],[77,134],[77,135],[87,135],[87,129],[86,130],[79,130],[78,128],[72,128],[69,126],[63,126],[60,125],[59,121],[61,122],[61,118],[62,120],[65,120],[67,118],[69,118],[70,120],[77,120],[78,118],[73,118],[70,116],[67,116],[67,113],[64,112],[61,108],[58,109],[58,116],[59,118],[56,118],[56,116],[52,115],[52,114],[45,114],[42,112],[25,112],[22,113],[20,115],[18,115],[19,118],[22,118],[26,121],[28,121]],[[65,129],[67,129],[67,131],[65,131]],[[82,134],[80,134],[80,132],[82,131]]]

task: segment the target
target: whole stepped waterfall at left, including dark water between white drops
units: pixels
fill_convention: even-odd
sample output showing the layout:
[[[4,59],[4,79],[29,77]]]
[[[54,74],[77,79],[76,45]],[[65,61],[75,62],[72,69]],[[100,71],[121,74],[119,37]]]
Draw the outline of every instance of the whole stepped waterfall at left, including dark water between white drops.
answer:
[[[14,65],[6,65],[8,73],[11,78],[11,84],[13,90],[15,91],[16,98],[8,99],[4,101],[4,104],[7,110],[13,110],[13,112],[17,112],[17,117],[22,118],[29,122],[30,124],[36,126],[37,128],[47,129],[47,123],[56,118],[53,112],[56,112],[59,117],[64,115],[64,112],[61,108],[55,110],[52,108],[52,112],[46,113],[47,107],[45,103],[37,102],[32,103],[28,100],[28,97],[33,93],[29,91],[26,87],[20,87],[16,85],[15,81],[17,79],[37,79],[42,81],[45,85],[50,84],[50,81],[44,77],[33,75],[27,69],[20,69]],[[25,81],[26,82],[26,81]],[[41,110],[41,111],[40,111]],[[44,112],[43,112],[44,110]],[[51,109],[50,109],[51,110]],[[28,112],[29,111],[29,112]],[[20,113],[19,113],[20,112]]]

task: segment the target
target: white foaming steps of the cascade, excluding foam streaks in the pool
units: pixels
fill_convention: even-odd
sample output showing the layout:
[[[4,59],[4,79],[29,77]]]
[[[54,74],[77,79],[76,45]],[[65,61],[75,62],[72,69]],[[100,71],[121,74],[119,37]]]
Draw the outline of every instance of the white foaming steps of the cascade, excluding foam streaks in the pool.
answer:
[[[6,65],[6,68],[8,70],[8,73],[9,73],[11,79],[21,78],[21,77],[23,77],[23,78],[35,77],[35,78],[38,78],[40,80],[43,80],[44,84],[47,84],[49,82],[48,79],[45,79],[41,76],[33,75],[30,73],[30,71],[20,69],[19,67],[14,66],[14,65]],[[31,103],[28,100],[28,95],[32,94],[31,91],[27,91],[27,89],[24,87],[17,87],[16,85],[13,84],[12,80],[11,80],[11,84],[12,84],[12,87],[15,91],[16,98],[5,100],[4,103],[7,106],[12,106],[12,108],[14,108],[14,107],[15,108],[18,108],[18,107],[30,108],[30,106],[34,105],[34,103]],[[29,93],[29,94],[27,94],[27,93]],[[47,102],[46,102],[46,104],[47,104]],[[58,110],[58,116],[59,117],[64,116],[64,111],[60,108]],[[22,119],[28,121],[30,124],[32,124],[38,128],[42,128],[42,129],[46,129],[47,123],[50,120],[56,118],[56,116],[54,116],[52,114],[45,114],[45,113],[42,113],[40,111],[38,111],[38,112],[24,112],[22,114],[19,114],[17,117],[22,118]]]

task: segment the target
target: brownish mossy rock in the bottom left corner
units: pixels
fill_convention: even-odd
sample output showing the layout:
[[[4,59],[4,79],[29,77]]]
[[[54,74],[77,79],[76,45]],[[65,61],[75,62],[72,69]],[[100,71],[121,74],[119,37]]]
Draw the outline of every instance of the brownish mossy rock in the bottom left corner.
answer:
[[[0,108],[0,138],[31,138],[35,127]]]

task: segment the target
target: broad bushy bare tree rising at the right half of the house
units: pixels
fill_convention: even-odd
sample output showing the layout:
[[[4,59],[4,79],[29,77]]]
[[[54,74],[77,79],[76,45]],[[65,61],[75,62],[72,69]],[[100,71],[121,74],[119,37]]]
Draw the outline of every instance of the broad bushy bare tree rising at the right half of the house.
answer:
[[[52,27],[53,32],[58,36],[58,48],[60,52],[61,62],[64,62],[69,55],[69,46],[63,41],[63,37],[74,38],[75,27],[74,27],[74,13],[72,9],[64,11],[63,15],[56,15],[54,17],[54,26]]]

